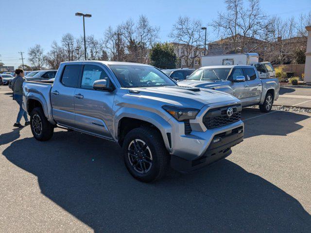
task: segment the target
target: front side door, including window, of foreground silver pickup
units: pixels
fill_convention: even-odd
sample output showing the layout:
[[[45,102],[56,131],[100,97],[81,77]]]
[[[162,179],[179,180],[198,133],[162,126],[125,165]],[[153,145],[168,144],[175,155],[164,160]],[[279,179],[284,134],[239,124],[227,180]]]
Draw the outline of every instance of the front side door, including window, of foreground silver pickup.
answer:
[[[113,85],[104,70],[99,65],[84,65],[82,78],[75,90],[74,106],[76,124],[80,130],[99,136],[112,138],[112,106],[115,92],[94,90],[96,80],[105,79],[107,87]]]

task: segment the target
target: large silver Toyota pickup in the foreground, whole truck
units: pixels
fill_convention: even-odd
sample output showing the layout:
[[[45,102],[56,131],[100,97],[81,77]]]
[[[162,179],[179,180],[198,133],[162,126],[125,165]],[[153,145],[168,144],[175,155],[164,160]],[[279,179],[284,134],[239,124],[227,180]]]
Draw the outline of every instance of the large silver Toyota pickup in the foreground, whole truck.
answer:
[[[180,87],[142,64],[62,63],[54,83],[23,84],[23,108],[37,140],[62,127],[118,143],[126,168],[143,182],[170,164],[187,172],[221,160],[243,140],[240,100]]]

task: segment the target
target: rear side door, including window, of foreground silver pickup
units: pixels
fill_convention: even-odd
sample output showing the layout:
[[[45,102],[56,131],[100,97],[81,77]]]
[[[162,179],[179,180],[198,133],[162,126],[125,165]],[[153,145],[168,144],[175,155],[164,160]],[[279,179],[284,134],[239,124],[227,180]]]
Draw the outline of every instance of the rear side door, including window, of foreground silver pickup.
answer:
[[[66,65],[59,81],[51,89],[52,115],[57,123],[76,128],[74,93],[79,82],[81,65]]]

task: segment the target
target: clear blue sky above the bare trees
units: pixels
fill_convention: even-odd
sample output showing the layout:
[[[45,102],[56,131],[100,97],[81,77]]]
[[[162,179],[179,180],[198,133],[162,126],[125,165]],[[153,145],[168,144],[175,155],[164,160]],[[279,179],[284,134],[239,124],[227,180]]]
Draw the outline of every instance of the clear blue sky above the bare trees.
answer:
[[[311,0],[261,0],[260,4],[267,15],[282,18],[311,11]],[[116,26],[130,17],[136,20],[143,14],[160,27],[160,40],[169,41],[167,35],[179,16],[207,24],[217,12],[225,11],[223,0],[0,0],[0,5],[0,60],[6,66],[21,63],[18,51],[25,52],[27,59],[29,47],[35,44],[48,51],[52,41],[60,41],[65,33],[83,34],[82,17],[76,17],[75,12],[92,14],[86,18],[86,34],[96,38],[102,38],[109,25]],[[216,34],[209,32],[208,37],[216,39]]]

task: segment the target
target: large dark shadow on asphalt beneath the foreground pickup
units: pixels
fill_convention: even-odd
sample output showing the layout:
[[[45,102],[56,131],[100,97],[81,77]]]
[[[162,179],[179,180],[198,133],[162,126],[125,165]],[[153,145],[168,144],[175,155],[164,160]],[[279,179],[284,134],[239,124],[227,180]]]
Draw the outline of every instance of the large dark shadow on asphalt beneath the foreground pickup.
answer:
[[[311,231],[296,199],[229,160],[146,184],[126,171],[118,145],[77,132],[17,140],[3,155],[95,232]]]

